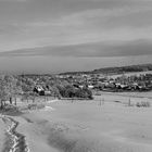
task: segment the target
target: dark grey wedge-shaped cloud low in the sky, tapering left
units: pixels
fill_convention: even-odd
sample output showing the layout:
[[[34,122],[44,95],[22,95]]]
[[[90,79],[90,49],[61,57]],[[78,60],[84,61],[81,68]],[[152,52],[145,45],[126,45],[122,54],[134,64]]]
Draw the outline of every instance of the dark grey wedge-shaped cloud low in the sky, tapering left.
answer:
[[[103,58],[130,56],[152,54],[152,41],[135,40],[121,43],[83,43],[60,47],[29,48],[1,52],[0,56],[74,56],[74,58]]]

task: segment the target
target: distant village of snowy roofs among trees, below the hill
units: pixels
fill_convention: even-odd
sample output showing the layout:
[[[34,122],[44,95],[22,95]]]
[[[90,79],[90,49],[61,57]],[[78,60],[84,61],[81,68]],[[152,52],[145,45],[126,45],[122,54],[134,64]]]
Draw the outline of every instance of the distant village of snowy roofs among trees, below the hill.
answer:
[[[152,74],[127,76],[105,76],[103,74],[60,75],[60,79],[66,79],[75,87],[87,86],[91,90],[102,91],[150,91],[152,90]]]

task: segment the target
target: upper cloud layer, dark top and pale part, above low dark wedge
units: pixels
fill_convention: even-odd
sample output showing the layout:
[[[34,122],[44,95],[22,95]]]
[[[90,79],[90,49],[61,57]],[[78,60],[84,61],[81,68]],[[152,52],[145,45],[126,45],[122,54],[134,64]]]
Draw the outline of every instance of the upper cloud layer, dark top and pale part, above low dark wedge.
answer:
[[[14,12],[10,11],[10,8],[5,13],[11,14],[3,15],[4,22],[0,24],[0,49],[3,51],[45,46],[151,40],[151,0],[64,2],[33,0],[30,7],[21,4],[21,9],[14,4],[13,7],[17,7],[14,9],[15,14],[11,15]]]

